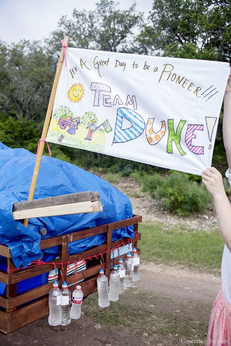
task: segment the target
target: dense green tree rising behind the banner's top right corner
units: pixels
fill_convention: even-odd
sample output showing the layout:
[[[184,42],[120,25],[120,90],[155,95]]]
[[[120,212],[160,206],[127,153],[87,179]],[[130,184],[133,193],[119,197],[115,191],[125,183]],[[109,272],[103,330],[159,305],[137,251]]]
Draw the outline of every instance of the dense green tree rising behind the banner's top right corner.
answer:
[[[154,0],[137,49],[143,53],[229,61],[231,2]]]

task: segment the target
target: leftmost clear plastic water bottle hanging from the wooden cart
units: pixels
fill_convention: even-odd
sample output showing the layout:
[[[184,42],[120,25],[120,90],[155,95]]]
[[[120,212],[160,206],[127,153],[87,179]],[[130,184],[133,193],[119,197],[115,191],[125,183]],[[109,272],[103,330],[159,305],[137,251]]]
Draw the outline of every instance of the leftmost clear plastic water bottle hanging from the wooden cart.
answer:
[[[58,281],[55,280],[53,282],[53,287],[49,292],[48,323],[50,326],[58,326],[62,322],[61,299],[62,299],[62,292],[58,288]]]

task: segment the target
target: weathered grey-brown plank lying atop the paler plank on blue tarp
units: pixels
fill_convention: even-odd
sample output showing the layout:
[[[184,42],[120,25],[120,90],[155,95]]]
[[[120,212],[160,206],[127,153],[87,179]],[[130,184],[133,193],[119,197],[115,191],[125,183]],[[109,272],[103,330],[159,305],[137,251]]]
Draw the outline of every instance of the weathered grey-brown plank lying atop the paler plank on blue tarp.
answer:
[[[56,197],[41,198],[39,200],[26,200],[13,204],[13,212],[49,207],[60,204],[73,204],[78,202],[96,202],[99,200],[98,192],[85,191],[69,195],[61,195]]]

